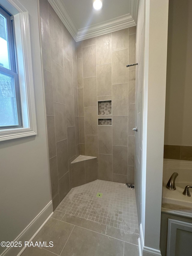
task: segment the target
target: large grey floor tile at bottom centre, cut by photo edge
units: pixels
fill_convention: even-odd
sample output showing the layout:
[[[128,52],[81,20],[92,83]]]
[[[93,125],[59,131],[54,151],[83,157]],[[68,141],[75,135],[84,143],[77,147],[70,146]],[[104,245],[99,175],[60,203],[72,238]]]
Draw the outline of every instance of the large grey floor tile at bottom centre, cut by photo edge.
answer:
[[[75,226],[61,256],[122,256],[123,249],[123,241]]]

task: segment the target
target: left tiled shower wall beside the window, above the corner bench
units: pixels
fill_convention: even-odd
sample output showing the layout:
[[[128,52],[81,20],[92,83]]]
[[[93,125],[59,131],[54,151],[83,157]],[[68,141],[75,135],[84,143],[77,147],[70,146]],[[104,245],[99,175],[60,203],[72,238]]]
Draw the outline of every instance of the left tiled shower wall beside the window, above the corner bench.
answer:
[[[79,155],[76,44],[47,0],[40,0],[41,43],[53,209],[71,189]]]

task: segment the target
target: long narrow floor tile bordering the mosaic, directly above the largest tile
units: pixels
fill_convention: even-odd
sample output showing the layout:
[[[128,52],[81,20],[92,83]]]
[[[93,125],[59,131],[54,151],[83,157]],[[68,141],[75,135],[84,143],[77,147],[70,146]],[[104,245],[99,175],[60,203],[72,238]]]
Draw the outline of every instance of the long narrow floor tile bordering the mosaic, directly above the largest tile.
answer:
[[[84,218],[79,218],[73,215],[65,214],[64,217],[62,218],[62,221],[65,221],[67,223],[79,226],[79,227],[84,227],[86,229],[105,234],[106,227],[107,225],[91,221],[91,220],[86,220]]]

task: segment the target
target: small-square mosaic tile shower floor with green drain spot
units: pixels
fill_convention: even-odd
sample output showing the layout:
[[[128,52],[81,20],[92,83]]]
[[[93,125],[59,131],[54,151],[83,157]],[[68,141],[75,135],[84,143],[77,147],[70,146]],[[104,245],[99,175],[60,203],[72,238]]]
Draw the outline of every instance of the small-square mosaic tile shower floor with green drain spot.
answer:
[[[139,233],[135,191],[122,183],[95,180],[72,188],[56,211]]]

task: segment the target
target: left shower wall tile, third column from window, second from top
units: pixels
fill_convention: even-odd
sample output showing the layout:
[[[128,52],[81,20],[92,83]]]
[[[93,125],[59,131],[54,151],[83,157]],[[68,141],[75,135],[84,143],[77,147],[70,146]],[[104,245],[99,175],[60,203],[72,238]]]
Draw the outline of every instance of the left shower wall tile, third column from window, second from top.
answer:
[[[73,66],[65,57],[63,57],[63,61],[65,92],[73,95]]]

